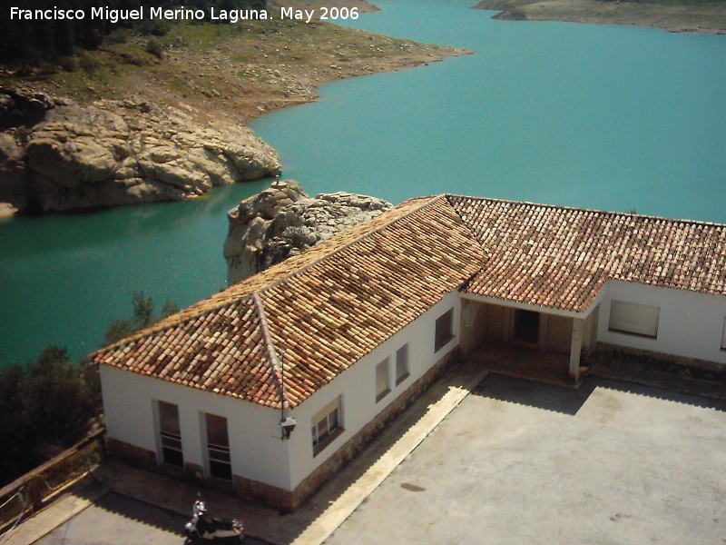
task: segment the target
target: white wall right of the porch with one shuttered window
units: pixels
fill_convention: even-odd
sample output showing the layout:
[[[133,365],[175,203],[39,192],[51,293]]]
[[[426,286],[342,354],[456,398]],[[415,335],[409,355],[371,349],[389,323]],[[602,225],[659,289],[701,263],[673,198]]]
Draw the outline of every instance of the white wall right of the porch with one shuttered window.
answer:
[[[726,297],[659,288],[636,282],[610,281],[598,319],[597,340],[631,348],[726,363],[721,350]],[[661,309],[655,339],[608,331],[611,301],[635,302]]]

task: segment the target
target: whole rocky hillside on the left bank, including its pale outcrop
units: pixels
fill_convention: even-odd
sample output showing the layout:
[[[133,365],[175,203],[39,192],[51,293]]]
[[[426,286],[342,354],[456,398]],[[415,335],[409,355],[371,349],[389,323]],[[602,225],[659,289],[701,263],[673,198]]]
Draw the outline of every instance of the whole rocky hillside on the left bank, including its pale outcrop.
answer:
[[[295,4],[375,9],[284,3]],[[0,216],[187,199],[276,175],[250,119],[314,101],[325,82],[467,53],[275,17],[180,23],[162,36],[119,28],[57,64],[0,65]]]

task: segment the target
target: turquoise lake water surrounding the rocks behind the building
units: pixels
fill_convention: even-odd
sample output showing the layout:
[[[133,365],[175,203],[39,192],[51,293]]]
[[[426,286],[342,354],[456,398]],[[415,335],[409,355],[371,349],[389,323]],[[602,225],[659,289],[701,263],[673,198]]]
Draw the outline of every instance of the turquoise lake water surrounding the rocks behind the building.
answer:
[[[459,0],[396,0],[354,25],[476,54],[321,89],[252,127],[308,193],[394,203],[464,193],[726,223],[726,36],[493,21]],[[0,223],[0,365],[74,357],[131,313],[225,283],[226,211],[269,182],[188,203]]]

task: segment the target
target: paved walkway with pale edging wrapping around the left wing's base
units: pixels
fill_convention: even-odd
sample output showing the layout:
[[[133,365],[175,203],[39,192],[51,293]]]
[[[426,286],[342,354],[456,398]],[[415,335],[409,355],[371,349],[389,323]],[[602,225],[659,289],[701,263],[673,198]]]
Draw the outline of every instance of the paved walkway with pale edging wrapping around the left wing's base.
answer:
[[[349,463],[344,471],[340,471],[292,514],[283,515],[277,510],[211,490],[202,490],[204,498],[214,515],[243,518],[247,533],[262,541],[275,544],[320,543],[358,508],[485,376],[486,371],[472,363],[450,369],[392,422],[384,435],[372,441],[355,461]],[[94,471],[93,477],[80,483],[73,494],[21,524],[8,542],[14,545],[34,543],[66,520],[97,504],[99,500],[103,501],[111,490],[115,494],[187,516],[191,515],[191,505],[200,489],[189,483],[112,461]],[[128,518],[130,525],[147,524],[131,512],[122,514]],[[138,533],[130,531],[128,537],[128,541],[123,541],[120,534],[116,533],[109,537],[108,543],[138,543]]]

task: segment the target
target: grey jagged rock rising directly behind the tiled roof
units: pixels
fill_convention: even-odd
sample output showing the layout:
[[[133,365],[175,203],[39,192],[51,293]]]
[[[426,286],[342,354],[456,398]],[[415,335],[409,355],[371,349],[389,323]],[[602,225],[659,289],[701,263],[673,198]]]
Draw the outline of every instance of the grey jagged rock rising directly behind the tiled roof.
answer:
[[[227,214],[227,281],[240,282],[391,206],[356,193],[320,193],[311,198],[295,181],[272,183]]]

